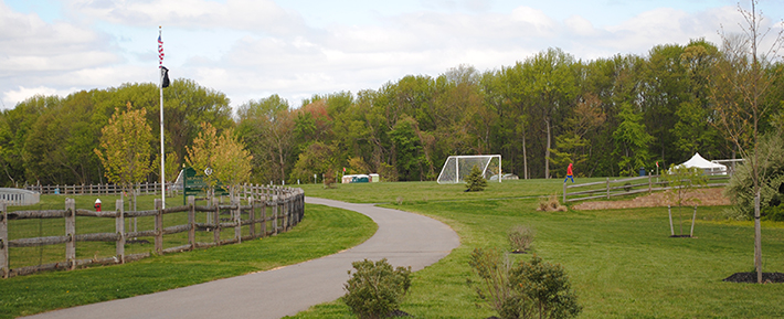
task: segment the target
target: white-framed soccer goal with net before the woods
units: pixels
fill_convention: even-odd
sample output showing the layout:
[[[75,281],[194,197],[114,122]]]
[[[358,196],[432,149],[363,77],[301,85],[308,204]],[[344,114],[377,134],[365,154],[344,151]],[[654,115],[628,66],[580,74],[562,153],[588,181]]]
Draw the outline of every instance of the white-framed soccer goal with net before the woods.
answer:
[[[444,162],[437,182],[439,184],[465,182],[475,166],[481,170],[485,179],[498,179],[498,182],[501,182],[501,156],[499,155],[451,156]]]

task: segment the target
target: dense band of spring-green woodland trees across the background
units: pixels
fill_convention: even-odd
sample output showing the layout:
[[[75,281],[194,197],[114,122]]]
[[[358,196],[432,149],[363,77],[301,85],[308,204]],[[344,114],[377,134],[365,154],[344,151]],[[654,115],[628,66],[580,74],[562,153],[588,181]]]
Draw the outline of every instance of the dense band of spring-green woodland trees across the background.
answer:
[[[257,183],[320,181],[343,168],[388,181],[435,180],[451,155],[499,153],[505,172],[520,178],[562,177],[569,163],[578,177],[604,177],[667,167],[695,152],[737,158],[738,145],[717,125],[720,106],[742,99],[725,94],[733,88],[722,82],[731,49],[724,46],[692,40],[592,61],[548,49],[496,70],[459,65],[378,89],[314,95],[297,107],[272,95],[236,114],[225,94],[174,79],[163,89],[167,166],[186,163],[203,124],[244,143]],[[760,97],[770,109],[757,121],[765,134],[784,124],[784,64],[761,65],[771,83]],[[157,84],[125,84],[34,96],[3,110],[0,185],[105,183],[95,152],[102,129],[126,105],[146,109],[148,125],[158,127],[158,94]],[[159,131],[151,134],[159,151]]]

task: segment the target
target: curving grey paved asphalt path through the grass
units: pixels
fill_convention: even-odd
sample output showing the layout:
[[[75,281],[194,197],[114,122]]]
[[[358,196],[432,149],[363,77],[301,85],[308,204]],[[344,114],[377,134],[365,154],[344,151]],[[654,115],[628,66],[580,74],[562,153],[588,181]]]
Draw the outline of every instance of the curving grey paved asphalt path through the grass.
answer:
[[[301,264],[27,318],[280,318],[342,296],[351,262],[386,258],[420,270],[459,245],[452,228],[422,215],[316,198],[305,202],[365,214],[379,230],[359,246]]]

